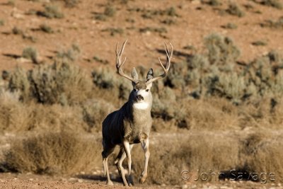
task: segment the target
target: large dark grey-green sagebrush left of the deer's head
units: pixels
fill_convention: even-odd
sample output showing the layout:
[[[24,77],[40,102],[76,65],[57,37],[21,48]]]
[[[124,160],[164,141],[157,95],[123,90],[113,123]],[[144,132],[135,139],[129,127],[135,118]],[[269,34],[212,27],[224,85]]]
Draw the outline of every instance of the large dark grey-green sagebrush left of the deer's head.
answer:
[[[74,64],[40,65],[30,71],[31,94],[46,104],[72,105],[85,101],[91,92],[91,79]]]

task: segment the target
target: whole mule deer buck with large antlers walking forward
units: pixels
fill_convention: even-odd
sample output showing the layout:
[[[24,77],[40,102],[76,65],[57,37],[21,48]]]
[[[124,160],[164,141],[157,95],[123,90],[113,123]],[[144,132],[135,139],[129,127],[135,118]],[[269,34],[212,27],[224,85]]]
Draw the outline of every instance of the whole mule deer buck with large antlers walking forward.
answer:
[[[107,184],[112,185],[110,180],[109,170],[108,170],[108,156],[114,151],[115,146],[120,146],[119,154],[115,160],[117,169],[122,176],[122,181],[124,185],[128,185],[124,168],[122,167],[122,161],[127,156],[127,164],[129,168],[129,184],[133,184],[131,176],[131,149],[134,144],[141,143],[142,149],[144,149],[144,171],[139,177],[139,182],[144,183],[147,176],[147,166],[149,162],[149,133],[151,130],[151,104],[152,104],[152,95],[151,95],[151,86],[152,82],[165,77],[168,74],[170,68],[170,61],[173,55],[173,46],[171,45],[171,52],[166,47],[166,66],[164,67],[161,60],[159,63],[163,68],[164,73],[160,76],[154,77],[153,69],[149,69],[149,72],[146,76],[146,81],[139,80],[137,71],[135,68],[132,69],[131,76],[127,76],[123,69],[122,65],[125,63],[125,60],[122,62],[122,53],[124,51],[127,40],[123,43],[122,48],[118,51],[116,45],[116,68],[118,74],[123,76],[129,81],[132,81],[133,89],[129,94],[129,100],[122,105],[120,110],[117,110],[113,113],[110,113],[105,120],[103,121],[103,167],[105,177],[107,176]]]

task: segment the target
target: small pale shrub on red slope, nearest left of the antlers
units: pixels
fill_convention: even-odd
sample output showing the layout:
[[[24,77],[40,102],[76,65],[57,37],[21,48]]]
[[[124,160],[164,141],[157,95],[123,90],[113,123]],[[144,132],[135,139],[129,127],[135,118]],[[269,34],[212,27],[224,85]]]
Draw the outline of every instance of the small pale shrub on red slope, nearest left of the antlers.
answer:
[[[78,59],[80,53],[81,49],[79,45],[72,44],[68,50],[61,50],[57,52],[57,59],[64,63],[74,62]]]

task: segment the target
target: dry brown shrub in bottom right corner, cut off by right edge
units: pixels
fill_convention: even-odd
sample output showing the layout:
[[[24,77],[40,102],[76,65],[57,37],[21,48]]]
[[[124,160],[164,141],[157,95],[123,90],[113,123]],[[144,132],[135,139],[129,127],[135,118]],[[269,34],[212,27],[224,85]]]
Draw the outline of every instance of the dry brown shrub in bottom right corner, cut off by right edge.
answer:
[[[267,130],[250,132],[241,140],[241,156],[245,159],[248,171],[255,173],[274,173],[275,181],[282,181],[282,159],[276,157],[282,153],[282,139],[279,133],[275,134]],[[255,181],[260,181],[256,178]],[[267,178],[267,182],[270,180]],[[262,182],[262,181],[260,181]]]

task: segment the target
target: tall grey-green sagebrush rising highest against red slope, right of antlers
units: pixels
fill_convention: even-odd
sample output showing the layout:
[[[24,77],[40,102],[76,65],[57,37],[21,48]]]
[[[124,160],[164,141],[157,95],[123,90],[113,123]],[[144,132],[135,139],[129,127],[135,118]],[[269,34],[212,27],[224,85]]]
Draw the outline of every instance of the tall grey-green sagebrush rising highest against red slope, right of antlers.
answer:
[[[204,45],[208,50],[209,62],[211,64],[229,64],[236,62],[240,56],[240,50],[234,45],[233,40],[212,33],[204,38]]]

